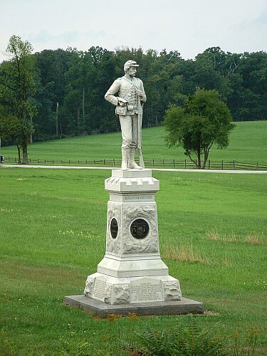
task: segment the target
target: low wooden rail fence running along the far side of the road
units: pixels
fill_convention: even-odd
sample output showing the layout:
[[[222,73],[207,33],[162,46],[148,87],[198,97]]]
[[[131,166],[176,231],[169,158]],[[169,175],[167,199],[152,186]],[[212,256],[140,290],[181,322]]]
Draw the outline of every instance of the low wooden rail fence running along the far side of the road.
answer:
[[[5,162],[19,163],[16,157],[5,157]],[[88,165],[88,166],[107,166],[107,167],[120,167],[120,159],[86,159],[86,160],[72,160],[72,159],[28,159],[29,164],[60,164],[60,165]],[[157,168],[177,168],[177,169],[195,169],[196,166],[188,159],[147,159],[145,160],[145,167],[157,167]],[[249,163],[238,161],[207,161],[206,169],[220,169],[220,170],[267,170],[267,164],[261,163]]]

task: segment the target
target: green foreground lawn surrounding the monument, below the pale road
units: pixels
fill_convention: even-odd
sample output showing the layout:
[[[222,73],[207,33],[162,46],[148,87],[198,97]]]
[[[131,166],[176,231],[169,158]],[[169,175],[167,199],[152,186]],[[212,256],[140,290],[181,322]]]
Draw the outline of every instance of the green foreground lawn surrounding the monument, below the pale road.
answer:
[[[153,175],[161,184],[156,199],[163,260],[183,295],[209,310],[196,316],[197,323],[223,336],[256,328],[257,354],[266,354],[266,174]],[[62,304],[65,295],[83,293],[105,253],[103,181],[109,176],[100,170],[0,169],[1,355],[78,355],[85,349],[88,355],[127,355],[119,339],[134,337],[133,330],[175,328],[185,320],[112,322]]]

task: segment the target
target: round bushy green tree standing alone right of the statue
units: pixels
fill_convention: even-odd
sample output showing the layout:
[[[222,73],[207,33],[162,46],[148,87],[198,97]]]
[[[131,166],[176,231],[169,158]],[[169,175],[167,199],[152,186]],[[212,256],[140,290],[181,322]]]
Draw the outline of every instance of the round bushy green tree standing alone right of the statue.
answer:
[[[199,89],[189,95],[184,108],[170,105],[166,111],[167,144],[169,147],[182,146],[196,167],[204,169],[212,145],[228,146],[229,132],[234,128],[231,120],[229,108],[216,90]]]

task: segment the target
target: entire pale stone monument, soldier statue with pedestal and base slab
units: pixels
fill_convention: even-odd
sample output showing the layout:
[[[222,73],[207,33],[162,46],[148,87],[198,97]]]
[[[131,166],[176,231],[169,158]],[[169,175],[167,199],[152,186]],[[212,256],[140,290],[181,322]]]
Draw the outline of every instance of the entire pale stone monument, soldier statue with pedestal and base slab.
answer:
[[[112,177],[105,179],[110,194],[105,256],[98,271],[88,276],[84,295],[65,297],[64,302],[100,315],[203,313],[202,303],[182,297],[179,281],[169,276],[159,254],[155,201],[159,180],[151,169],[135,163],[142,120],[137,97],[146,100],[141,80],[134,78],[136,67],[135,61],[127,61],[126,78],[115,80],[105,95],[120,107],[116,112],[122,127],[122,167],[112,169]],[[114,96],[117,92],[120,97]]]

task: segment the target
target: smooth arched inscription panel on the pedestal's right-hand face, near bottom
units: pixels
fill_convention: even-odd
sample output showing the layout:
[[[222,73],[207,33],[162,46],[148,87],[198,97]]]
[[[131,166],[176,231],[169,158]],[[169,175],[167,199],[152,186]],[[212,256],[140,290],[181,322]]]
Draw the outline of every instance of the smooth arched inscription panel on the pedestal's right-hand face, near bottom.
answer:
[[[161,281],[142,278],[130,285],[131,303],[163,301]]]

